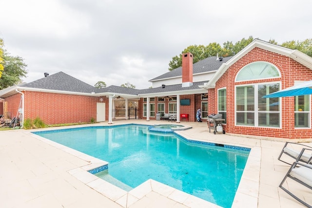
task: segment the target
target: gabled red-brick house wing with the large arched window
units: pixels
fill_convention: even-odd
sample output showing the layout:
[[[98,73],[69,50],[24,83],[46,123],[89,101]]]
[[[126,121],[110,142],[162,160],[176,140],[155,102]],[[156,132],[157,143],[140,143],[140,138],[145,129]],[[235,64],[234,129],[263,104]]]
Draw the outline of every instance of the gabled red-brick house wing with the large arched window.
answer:
[[[226,117],[228,133],[280,138],[311,138],[310,95],[262,98],[312,79],[312,58],[255,39],[224,63],[204,86],[209,112]]]

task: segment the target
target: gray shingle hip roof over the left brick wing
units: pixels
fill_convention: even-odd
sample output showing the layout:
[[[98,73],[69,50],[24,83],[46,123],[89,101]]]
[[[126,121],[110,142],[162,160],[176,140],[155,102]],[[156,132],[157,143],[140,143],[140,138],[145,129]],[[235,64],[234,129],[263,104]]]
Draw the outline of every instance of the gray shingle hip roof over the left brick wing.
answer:
[[[23,87],[78,93],[92,93],[97,92],[98,90],[97,88],[63,72],[58,72],[56,74],[24,84]]]

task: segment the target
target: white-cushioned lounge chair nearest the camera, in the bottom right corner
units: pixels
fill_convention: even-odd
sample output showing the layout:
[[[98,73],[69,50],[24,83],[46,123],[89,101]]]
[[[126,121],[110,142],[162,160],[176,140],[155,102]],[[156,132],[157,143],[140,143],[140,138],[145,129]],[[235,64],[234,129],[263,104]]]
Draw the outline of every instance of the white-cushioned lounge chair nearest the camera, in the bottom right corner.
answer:
[[[294,195],[291,190],[286,189],[283,187],[284,182],[286,181],[287,178],[291,178],[294,181],[298,182],[299,184],[312,189],[312,165],[311,164],[303,164],[298,161],[293,162],[291,168],[288,170],[287,174],[285,175],[284,179],[279,185],[279,188],[283,189],[291,195],[294,199],[296,199],[298,202],[302,203],[303,205],[312,208],[311,205],[308,203],[304,202],[302,199]]]

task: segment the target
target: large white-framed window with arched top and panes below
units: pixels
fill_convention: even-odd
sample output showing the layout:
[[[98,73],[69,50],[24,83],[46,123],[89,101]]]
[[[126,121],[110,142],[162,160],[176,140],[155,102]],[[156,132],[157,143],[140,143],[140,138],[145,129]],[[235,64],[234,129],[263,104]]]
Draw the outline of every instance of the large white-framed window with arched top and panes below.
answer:
[[[236,81],[255,81],[250,84],[235,86],[236,125],[280,128],[279,98],[263,98],[264,95],[278,91],[280,82],[259,83],[256,81],[280,76],[277,67],[265,61],[250,63],[238,72]]]

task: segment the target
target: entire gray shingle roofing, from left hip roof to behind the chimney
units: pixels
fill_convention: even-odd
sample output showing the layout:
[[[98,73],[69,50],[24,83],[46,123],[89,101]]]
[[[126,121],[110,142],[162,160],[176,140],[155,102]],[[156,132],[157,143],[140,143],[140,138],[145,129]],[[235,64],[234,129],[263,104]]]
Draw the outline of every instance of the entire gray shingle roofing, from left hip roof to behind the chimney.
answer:
[[[216,71],[222,63],[228,61],[231,57],[224,57],[222,61],[216,60],[216,57],[208,57],[201,61],[193,64],[193,74],[199,74],[209,71]],[[150,81],[157,79],[170,78],[175,76],[182,76],[182,67],[178,67],[173,71],[165,73],[161,76],[157,76]],[[203,85],[204,82],[194,82],[191,87],[183,87],[182,84],[167,85],[165,88],[149,88],[149,89],[131,89],[125,87],[119,87],[111,85],[106,88],[97,89],[79,79],[69,76],[63,72],[56,73],[41,79],[35,80],[33,82],[23,84],[24,87],[37,88],[37,89],[47,89],[47,90],[58,90],[58,91],[68,91],[68,92],[78,92],[78,93],[116,93],[125,95],[142,95],[142,94],[155,94],[155,93],[165,93],[165,92],[175,92],[175,91],[185,91],[198,89],[198,85]]]

